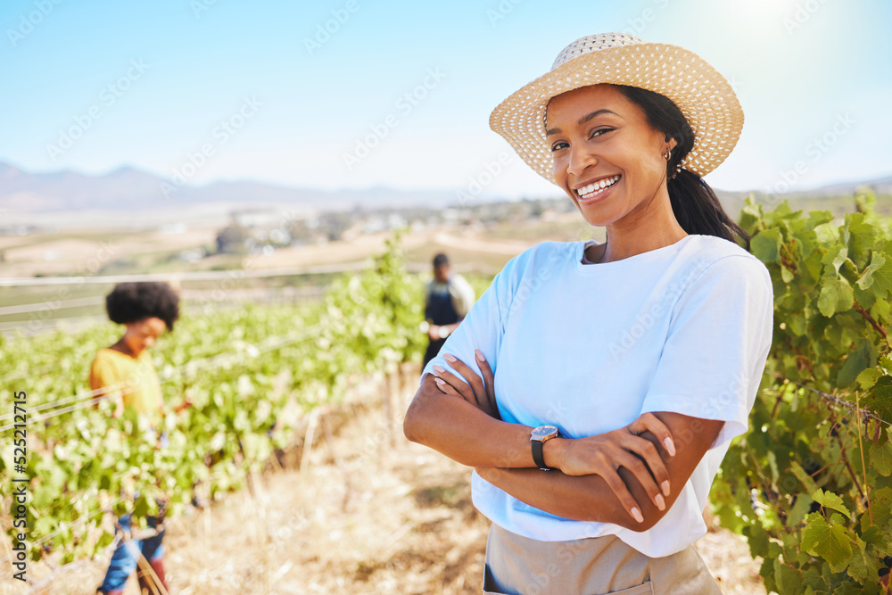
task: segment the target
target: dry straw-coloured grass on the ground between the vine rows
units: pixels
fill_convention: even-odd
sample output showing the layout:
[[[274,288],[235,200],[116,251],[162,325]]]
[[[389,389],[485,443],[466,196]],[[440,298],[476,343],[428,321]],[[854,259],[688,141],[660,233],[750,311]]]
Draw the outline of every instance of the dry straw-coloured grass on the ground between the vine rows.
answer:
[[[394,402],[395,417],[416,378]],[[265,474],[249,490],[169,521],[173,593],[480,592],[489,523],[471,504],[467,467],[409,443],[396,420],[389,432],[380,406],[359,405],[376,402],[378,385],[355,393],[321,417],[302,472]],[[725,593],[764,594],[758,564],[739,536],[712,531],[697,546]],[[93,593],[107,561],[59,574],[46,592]],[[34,567],[30,574],[47,572]],[[125,593],[137,595],[134,578]]]

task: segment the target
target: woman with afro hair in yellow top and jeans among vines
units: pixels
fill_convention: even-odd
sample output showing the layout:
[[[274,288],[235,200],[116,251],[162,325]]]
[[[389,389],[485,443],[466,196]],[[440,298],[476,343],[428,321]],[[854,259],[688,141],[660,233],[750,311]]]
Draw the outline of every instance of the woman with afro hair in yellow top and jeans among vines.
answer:
[[[117,343],[96,353],[90,367],[90,388],[102,391],[115,401],[113,417],[120,417],[123,409],[133,409],[141,416],[160,422],[164,415],[161,401],[161,384],[148,349],[165,330],[172,331],[179,316],[179,297],[164,283],[121,283],[105,297],[105,309],[112,322],[122,324],[126,330]],[[175,411],[188,407],[185,401]],[[159,442],[163,446],[165,438]],[[163,506],[163,505],[161,505]],[[149,516],[148,525],[156,527],[159,519]],[[118,519],[120,528],[130,530],[130,516]],[[136,570],[137,558],[143,557],[152,566],[158,582],[167,589],[164,576],[163,525],[158,533],[144,540],[119,541],[111,556],[102,586],[97,590],[105,594],[123,593],[127,578]],[[150,573],[140,571],[140,591],[154,592]]]

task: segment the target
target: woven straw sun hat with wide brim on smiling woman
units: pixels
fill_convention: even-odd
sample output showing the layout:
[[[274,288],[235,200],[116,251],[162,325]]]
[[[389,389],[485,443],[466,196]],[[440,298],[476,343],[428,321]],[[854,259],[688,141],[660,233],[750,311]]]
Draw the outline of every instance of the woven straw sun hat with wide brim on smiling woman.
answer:
[[[492,111],[490,128],[536,173],[554,183],[545,108],[552,97],[599,83],[640,87],[671,99],[694,131],[694,146],[681,167],[700,177],[718,167],[737,145],[743,110],[718,70],[677,45],[648,44],[624,33],[591,35],[567,45],[549,73]]]

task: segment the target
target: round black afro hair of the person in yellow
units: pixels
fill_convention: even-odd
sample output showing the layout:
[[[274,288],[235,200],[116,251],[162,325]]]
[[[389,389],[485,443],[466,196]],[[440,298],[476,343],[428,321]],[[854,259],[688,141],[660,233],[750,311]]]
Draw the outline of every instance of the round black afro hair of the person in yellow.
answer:
[[[119,325],[161,318],[172,331],[179,318],[179,296],[166,283],[119,283],[105,296],[105,311]]]

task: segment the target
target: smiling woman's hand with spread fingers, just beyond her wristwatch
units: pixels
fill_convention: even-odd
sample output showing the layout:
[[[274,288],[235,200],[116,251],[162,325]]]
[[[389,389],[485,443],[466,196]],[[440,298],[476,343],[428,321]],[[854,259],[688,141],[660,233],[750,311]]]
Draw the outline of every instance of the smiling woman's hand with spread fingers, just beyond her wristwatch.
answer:
[[[638,502],[620,477],[619,467],[625,467],[635,475],[648,492],[650,500],[653,500],[654,505],[660,510],[665,510],[664,496],[669,495],[671,487],[669,472],[657,447],[639,435],[648,431],[657,436],[657,440],[669,456],[675,455],[669,428],[653,413],[645,413],[628,426],[613,432],[586,438],[549,441],[555,442],[551,449],[555,459],[549,462],[549,465],[553,462],[553,466],[566,475],[600,475],[632,518],[640,523],[644,517],[641,515]],[[554,448],[558,446],[559,448]]]

